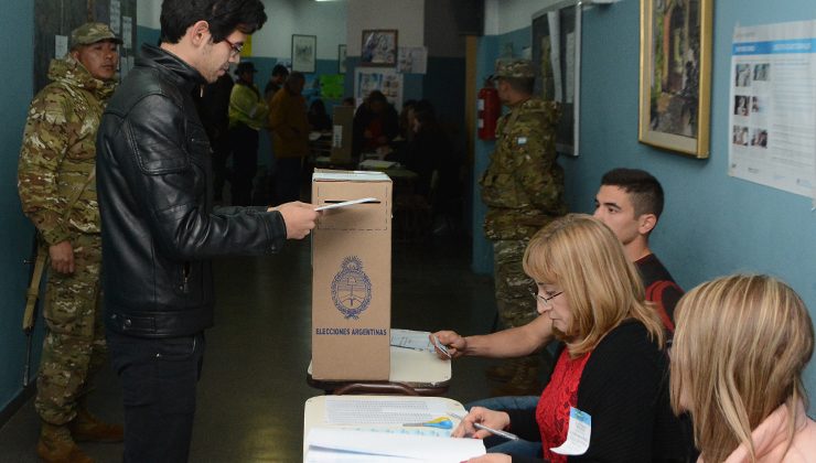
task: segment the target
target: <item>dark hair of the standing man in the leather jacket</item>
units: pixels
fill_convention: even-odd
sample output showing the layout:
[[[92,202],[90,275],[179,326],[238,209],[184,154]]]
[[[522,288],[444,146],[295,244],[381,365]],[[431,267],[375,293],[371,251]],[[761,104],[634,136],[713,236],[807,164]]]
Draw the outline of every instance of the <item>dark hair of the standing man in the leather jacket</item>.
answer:
[[[164,0],[161,3],[161,42],[179,43],[187,28],[210,23],[213,42],[238,30],[251,34],[264,25],[267,14],[260,0]]]

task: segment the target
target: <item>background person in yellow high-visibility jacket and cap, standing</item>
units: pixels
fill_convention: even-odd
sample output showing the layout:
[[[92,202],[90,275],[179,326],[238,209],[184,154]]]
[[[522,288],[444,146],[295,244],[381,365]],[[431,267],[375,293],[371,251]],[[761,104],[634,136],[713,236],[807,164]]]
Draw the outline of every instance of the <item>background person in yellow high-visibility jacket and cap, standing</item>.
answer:
[[[229,96],[229,139],[233,146],[232,203],[248,206],[253,200],[253,181],[258,172],[258,131],[266,127],[269,109],[260,97],[251,62],[238,64],[238,76]]]

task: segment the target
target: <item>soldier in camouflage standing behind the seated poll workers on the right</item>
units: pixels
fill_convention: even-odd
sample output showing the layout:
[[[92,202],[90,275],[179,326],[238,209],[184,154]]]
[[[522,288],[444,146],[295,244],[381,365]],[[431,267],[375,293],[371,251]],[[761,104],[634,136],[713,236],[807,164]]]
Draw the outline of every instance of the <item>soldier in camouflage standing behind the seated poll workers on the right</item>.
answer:
[[[556,163],[559,109],[556,103],[533,96],[535,74],[529,61],[500,61],[493,78],[509,112],[498,119],[496,147],[480,183],[487,205],[484,230],[493,240],[498,316],[506,327],[513,327],[537,316],[530,297],[533,281],[522,268],[527,243],[566,213],[563,171]],[[552,359],[546,352],[545,360],[548,373]],[[541,356],[533,355],[488,370],[488,376],[509,379],[494,394],[539,394],[540,362]]]

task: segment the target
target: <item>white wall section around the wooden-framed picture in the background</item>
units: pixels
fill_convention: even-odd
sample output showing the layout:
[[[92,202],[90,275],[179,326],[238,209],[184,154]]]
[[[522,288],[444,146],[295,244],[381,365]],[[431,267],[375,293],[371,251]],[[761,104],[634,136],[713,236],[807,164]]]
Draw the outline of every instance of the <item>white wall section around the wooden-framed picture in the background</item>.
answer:
[[[425,45],[425,0],[348,0],[348,56],[359,56],[365,29],[396,29],[399,46]]]

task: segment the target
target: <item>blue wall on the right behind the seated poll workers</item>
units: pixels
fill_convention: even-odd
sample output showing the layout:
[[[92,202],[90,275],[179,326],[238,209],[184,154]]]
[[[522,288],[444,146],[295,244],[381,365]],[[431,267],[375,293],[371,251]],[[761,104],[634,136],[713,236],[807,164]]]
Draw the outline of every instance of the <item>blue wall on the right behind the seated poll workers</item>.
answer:
[[[708,160],[637,142],[640,2],[623,0],[586,11],[580,157],[560,159],[567,174],[567,200],[571,211],[591,212],[603,172],[615,166],[645,169],[661,180],[667,200],[652,237],[653,249],[680,286],[690,289],[738,271],[771,273],[802,295],[816,320],[816,216],[810,211],[812,201],[727,174],[734,25],[813,20],[816,7],[813,0],[719,0],[713,4]],[[502,50],[495,50],[493,42],[505,39],[483,39],[485,50],[480,51],[480,58],[491,61]],[[482,158],[477,168],[483,169],[487,147],[477,152]],[[474,223],[475,235],[481,234],[479,224]],[[474,246],[474,269],[488,271],[488,259],[480,246]],[[805,381],[814,402],[816,362],[806,370]],[[814,413],[816,405],[810,406]]]

